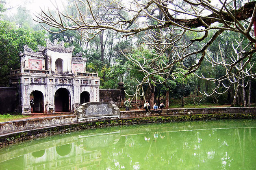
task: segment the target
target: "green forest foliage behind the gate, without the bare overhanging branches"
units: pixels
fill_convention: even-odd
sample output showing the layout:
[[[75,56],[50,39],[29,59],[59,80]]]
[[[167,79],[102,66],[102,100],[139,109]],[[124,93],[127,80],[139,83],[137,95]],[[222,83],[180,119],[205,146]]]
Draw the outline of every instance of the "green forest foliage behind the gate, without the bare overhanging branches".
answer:
[[[72,6],[72,1],[70,0],[69,2],[67,10],[72,12],[75,9],[74,6]],[[140,32],[135,36],[127,36],[123,38],[121,33],[113,32],[113,30],[102,30],[102,32],[96,34],[93,38],[91,37],[91,40],[87,42],[85,41],[85,38],[81,36],[79,30],[67,30],[59,34],[46,32],[39,26],[39,23],[32,20],[30,11],[27,11],[24,6],[18,7],[17,13],[10,16],[8,15],[8,9],[4,8],[4,5],[5,4],[0,1],[0,11],[2,12],[0,16],[0,76],[2,78],[0,80],[0,86],[2,87],[9,85],[8,75],[10,70],[20,68],[19,53],[20,51],[23,51],[23,46],[27,44],[34,51],[37,51],[37,45],[45,46],[45,38],[50,38],[50,40],[58,38],[59,41],[63,40],[65,42],[65,47],[74,46],[74,54],[82,51],[83,56],[87,58],[87,72],[98,72],[99,77],[101,78],[101,88],[116,88],[117,83],[122,81],[125,83],[127,94],[134,94],[138,81],[141,81],[145,77],[145,74],[143,74],[141,69],[134,64],[134,61],[129,60],[128,57],[131,56],[138,62],[143,63],[145,61],[143,61],[141,56],[150,60],[157,54],[157,48],[148,49],[143,43],[146,38],[146,32]],[[94,10],[94,12],[99,15],[104,11],[102,8]],[[59,31],[59,28],[45,27],[52,32]],[[155,31],[157,32],[158,30]],[[176,34],[180,34],[180,32],[177,31],[172,36],[175,36]],[[203,47],[213,34],[215,34],[214,30],[209,31],[205,40],[194,43],[189,47],[188,51]],[[195,34],[193,32],[187,32],[182,36],[182,42],[184,44],[189,43],[191,39],[200,37],[202,37],[202,34],[200,33]],[[213,58],[216,58],[217,56],[220,57],[221,51],[222,57],[225,60],[230,60],[230,56],[236,55],[232,43],[235,44],[236,40],[242,39],[245,40],[243,40],[240,45],[241,49],[246,48],[248,40],[241,34],[226,30],[207,48],[208,55]],[[172,49],[168,49],[165,51],[165,54],[161,56],[161,60],[169,63],[171,62],[171,55],[173,55]],[[251,63],[255,62],[255,54],[251,57]],[[200,56],[195,54],[186,58],[182,63],[177,62],[172,68],[172,72],[175,72],[175,74],[168,77],[167,81],[164,83],[154,83],[163,79],[160,75],[148,77],[149,83],[143,84],[146,100],[158,102],[158,104],[160,100],[167,101],[167,103],[169,103],[168,101],[176,101],[175,103],[178,101],[182,106],[186,104],[185,101],[187,101],[187,104],[198,104],[200,102],[244,105],[243,99],[248,103],[248,99],[250,98],[251,103],[256,102],[256,80],[248,77],[243,79],[245,82],[244,85],[246,85],[244,95],[243,87],[236,84],[232,85],[232,88],[228,89],[228,91],[223,94],[213,94],[208,97],[202,95],[200,92],[203,93],[204,91],[206,94],[211,94],[213,89],[217,86],[217,83],[200,79],[194,74],[186,76],[182,74],[186,72],[184,66],[189,68],[193,66],[195,62],[198,62],[199,59]],[[152,63],[152,65],[154,66],[157,64]],[[219,65],[215,66],[207,60],[203,60],[200,68],[196,70],[196,74],[198,75],[204,75],[205,77],[212,77],[215,79],[223,76],[225,72],[226,70],[223,67]],[[251,72],[256,72],[256,66],[252,67]],[[229,82],[227,81],[226,83],[228,84]],[[251,91],[251,94],[249,90]],[[225,89],[219,87],[219,92],[224,91]],[[137,100],[140,99],[143,99],[143,97],[138,96]]]

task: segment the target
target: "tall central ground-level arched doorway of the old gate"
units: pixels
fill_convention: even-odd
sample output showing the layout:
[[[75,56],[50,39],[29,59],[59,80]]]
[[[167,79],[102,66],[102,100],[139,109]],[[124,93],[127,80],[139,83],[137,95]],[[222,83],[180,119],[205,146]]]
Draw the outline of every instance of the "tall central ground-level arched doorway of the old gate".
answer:
[[[56,112],[70,111],[70,94],[65,88],[60,88],[55,92],[54,104]]]

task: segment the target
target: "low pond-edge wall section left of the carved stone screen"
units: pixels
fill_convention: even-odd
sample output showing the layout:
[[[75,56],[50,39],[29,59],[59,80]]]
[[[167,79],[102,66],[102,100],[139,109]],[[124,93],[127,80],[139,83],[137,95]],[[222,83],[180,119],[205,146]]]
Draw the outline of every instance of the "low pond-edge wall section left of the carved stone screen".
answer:
[[[76,115],[9,121],[0,123],[0,134],[40,129],[42,127],[46,128],[51,126],[67,125],[70,123],[77,123]]]

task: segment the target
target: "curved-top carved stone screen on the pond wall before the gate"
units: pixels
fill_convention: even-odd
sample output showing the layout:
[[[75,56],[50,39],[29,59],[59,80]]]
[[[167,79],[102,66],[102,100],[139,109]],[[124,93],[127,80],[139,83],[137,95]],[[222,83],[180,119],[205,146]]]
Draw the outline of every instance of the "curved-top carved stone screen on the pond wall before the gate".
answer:
[[[119,118],[119,108],[108,102],[84,103],[75,110],[78,122]]]

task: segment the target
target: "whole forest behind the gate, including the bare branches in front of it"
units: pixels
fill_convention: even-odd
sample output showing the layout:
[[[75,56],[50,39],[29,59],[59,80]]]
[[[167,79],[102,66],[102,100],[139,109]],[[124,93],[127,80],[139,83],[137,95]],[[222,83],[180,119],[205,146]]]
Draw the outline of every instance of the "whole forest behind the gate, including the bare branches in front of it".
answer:
[[[208,1],[133,1],[130,14],[121,0],[67,1],[69,15],[56,9],[36,17],[25,6],[10,15],[0,1],[1,87],[8,87],[10,70],[20,67],[24,45],[37,51],[45,38],[58,38],[74,53],[82,51],[87,72],[98,72],[101,88],[115,89],[122,81],[132,100],[163,100],[167,107],[173,99],[184,106],[185,98],[191,104],[256,103],[254,2],[225,1],[217,9]],[[206,9],[216,15],[204,15]],[[242,18],[244,9],[249,12]]]

